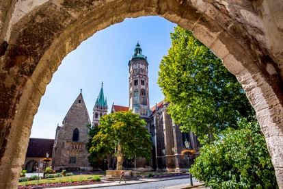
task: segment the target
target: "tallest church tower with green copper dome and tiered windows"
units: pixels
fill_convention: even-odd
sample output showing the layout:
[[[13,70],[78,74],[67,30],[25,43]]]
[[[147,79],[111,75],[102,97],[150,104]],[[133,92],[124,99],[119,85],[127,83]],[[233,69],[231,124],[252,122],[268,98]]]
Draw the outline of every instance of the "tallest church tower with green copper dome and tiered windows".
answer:
[[[149,116],[148,61],[137,42],[135,53],[129,61],[129,106],[139,116]]]

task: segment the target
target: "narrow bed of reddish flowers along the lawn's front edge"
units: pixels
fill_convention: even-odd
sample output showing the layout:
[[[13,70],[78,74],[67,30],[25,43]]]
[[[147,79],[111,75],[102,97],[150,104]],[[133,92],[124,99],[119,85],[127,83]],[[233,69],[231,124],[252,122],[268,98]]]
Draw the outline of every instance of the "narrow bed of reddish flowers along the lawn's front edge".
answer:
[[[39,184],[39,185],[29,185],[29,186],[18,186],[18,189],[31,189],[35,186],[42,188],[50,187],[63,187],[63,186],[79,186],[88,184],[100,184],[102,181],[73,181],[73,182],[61,182],[61,183],[49,183],[49,184]]]

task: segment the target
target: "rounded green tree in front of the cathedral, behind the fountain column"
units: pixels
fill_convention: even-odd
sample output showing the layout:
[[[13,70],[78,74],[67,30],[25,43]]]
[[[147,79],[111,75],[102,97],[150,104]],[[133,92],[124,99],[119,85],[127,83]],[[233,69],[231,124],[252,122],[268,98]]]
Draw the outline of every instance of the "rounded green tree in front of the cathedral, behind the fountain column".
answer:
[[[123,157],[150,159],[152,144],[146,122],[132,112],[115,112],[100,118],[98,132],[92,138],[90,155],[111,153],[116,155],[117,168],[122,166]]]

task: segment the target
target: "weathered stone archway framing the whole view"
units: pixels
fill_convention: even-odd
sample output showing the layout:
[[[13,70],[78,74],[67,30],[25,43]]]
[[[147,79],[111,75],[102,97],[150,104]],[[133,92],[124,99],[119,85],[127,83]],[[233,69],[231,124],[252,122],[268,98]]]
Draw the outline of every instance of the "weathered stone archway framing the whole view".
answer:
[[[148,15],[193,31],[236,75],[256,110],[283,187],[279,0],[0,2],[0,188],[17,186],[33,116],[62,59],[96,31],[127,17]]]

